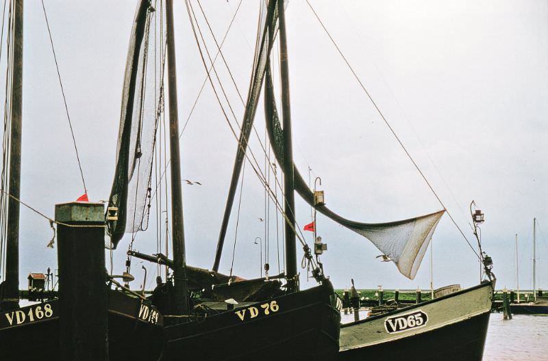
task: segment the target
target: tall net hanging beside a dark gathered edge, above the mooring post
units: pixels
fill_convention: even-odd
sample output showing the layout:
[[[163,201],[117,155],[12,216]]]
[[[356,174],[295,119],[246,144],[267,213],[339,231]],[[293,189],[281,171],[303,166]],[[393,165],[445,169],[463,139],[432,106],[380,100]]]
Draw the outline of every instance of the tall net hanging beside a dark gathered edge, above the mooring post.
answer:
[[[136,10],[125,68],[116,170],[108,206],[118,209],[118,219],[107,222],[116,248],[125,232],[148,226],[151,170],[155,133],[162,112],[164,34],[162,21],[154,21],[150,0]],[[158,66],[160,62],[160,66]]]

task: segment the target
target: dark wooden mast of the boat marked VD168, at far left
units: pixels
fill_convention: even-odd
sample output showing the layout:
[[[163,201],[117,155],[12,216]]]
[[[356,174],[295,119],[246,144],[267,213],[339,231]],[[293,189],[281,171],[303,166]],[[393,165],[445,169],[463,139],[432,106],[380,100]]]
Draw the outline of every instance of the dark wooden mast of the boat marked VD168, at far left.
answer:
[[[5,254],[5,284],[1,308],[19,304],[19,202],[21,191],[21,111],[23,108],[23,0],[14,1],[14,41],[11,90],[10,185],[8,192],[8,240]],[[16,198],[16,199],[15,199]]]

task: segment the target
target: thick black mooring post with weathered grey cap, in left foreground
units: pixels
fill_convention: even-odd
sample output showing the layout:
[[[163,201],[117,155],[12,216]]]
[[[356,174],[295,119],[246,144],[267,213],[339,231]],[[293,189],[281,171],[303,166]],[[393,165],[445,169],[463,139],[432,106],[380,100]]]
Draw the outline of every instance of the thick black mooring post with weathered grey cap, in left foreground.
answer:
[[[55,205],[62,361],[108,361],[102,203]]]

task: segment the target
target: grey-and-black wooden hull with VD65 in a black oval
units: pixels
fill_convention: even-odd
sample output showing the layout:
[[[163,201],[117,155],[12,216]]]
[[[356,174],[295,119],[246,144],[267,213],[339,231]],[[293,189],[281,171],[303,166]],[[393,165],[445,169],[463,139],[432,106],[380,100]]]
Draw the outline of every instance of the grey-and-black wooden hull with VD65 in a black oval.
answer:
[[[482,360],[492,297],[485,282],[343,325],[338,360]]]

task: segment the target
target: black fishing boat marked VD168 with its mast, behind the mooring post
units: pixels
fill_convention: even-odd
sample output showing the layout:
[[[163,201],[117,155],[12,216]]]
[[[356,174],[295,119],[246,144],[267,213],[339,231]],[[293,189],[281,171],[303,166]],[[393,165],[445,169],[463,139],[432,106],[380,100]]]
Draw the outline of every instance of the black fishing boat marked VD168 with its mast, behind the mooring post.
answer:
[[[23,78],[23,0],[10,1],[10,27],[8,49],[10,59],[6,81],[11,85],[8,92],[11,127],[4,142],[10,144],[9,166],[4,158],[2,174],[9,174],[8,189],[2,183],[2,204],[8,204],[8,224],[5,230],[5,275],[0,284],[0,349],[2,360],[59,360],[61,345],[66,343],[60,336],[60,299],[26,302],[21,305],[19,286],[19,198],[21,184],[21,118]],[[10,43],[11,42],[11,43]],[[5,145],[5,144],[4,144]],[[3,211],[5,208],[2,207]],[[3,215],[4,217],[5,215]],[[5,218],[3,218],[4,220]],[[3,221],[4,222],[4,221]],[[4,232],[4,231],[3,231]],[[101,252],[104,257],[104,253]],[[77,260],[73,260],[77,262]],[[49,273],[49,272],[48,272]],[[106,275],[105,275],[106,276]],[[106,279],[106,278],[105,278]],[[85,282],[85,280],[82,280]],[[118,284],[119,290],[111,289]],[[108,294],[108,336],[110,360],[158,360],[162,355],[162,315],[142,295],[125,288],[110,279],[100,284]],[[82,310],[80,310],[82,311]],[[85,310],[84,310],[85,311]],[[147,345],[135,348],[134,343]],[[75,351],[77,352],[77,351]]]

